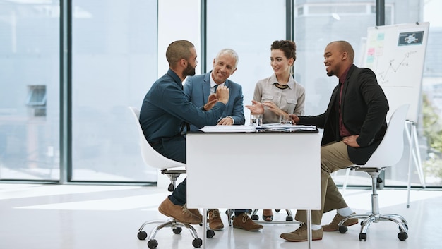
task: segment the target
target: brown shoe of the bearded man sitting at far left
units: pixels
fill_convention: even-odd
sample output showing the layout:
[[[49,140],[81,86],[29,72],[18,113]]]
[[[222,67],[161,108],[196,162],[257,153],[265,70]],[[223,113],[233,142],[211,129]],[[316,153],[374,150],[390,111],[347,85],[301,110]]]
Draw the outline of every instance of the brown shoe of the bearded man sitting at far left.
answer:
[[[186,205],[174,205],[169,198],[163,200],[161,202],[160,207],[158,207],[158,211],[164,214],[167,217],[172,217],[177,221],[188,224],[200,224],[202,219],[193,215],[189,209],[187,209]],[[199,211],[198,211],[199,213]]]

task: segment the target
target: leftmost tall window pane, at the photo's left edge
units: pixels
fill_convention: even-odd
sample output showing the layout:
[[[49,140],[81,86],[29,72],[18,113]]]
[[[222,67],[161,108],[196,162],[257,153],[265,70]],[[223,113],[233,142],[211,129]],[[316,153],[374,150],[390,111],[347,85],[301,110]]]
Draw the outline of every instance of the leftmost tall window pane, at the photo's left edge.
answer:
[[[59,1],[0,1],[0,180],[59,179]]]

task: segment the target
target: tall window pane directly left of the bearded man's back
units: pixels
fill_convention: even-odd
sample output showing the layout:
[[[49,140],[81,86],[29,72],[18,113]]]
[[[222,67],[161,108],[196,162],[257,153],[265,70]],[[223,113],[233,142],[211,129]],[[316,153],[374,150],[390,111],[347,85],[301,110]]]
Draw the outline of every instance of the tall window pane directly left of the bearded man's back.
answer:
[[[157,181],[128,106],[157,79],[157,1],[73,0],[72,181]]]

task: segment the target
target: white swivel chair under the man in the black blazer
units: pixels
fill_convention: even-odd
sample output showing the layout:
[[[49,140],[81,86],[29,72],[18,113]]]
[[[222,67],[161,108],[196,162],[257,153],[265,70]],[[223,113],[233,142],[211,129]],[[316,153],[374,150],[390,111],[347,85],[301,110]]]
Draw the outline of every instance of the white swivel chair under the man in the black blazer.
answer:
[[[347,232],[347,226],[343,226],[347,219],[358,218],[364,219],[361,222],[361,232],[359,233],[359,241],[366,241],[366,231],[372,222],[393,221],[399,226],[400,233],[398,238],[405,241],[408,238],[407,221],[399,214],[379,214],[378,194],[376,193],[376,183],[378,175],[388,166],[397,164],[402,157],[404,150],[404,127],[405,119],[409,104],[404,104],[395,110],[390,117],[390,122],[386,130],[386,134],[376,151],[371,155],[370,159],[364,165],[352,166],[356,171],[365,171],[371,176],[371,214],[353,214],[339,222],[339,232]]]

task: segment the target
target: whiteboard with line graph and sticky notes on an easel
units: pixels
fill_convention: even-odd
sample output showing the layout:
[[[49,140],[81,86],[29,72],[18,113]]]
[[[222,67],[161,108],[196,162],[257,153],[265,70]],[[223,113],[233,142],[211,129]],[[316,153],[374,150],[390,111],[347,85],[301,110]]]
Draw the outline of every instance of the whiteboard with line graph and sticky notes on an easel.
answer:
[[[407,120],[417,122],[429,23],[371,27],[367,30],[363,67],[371,68],[386,93],[390,111],[410,104]]]

